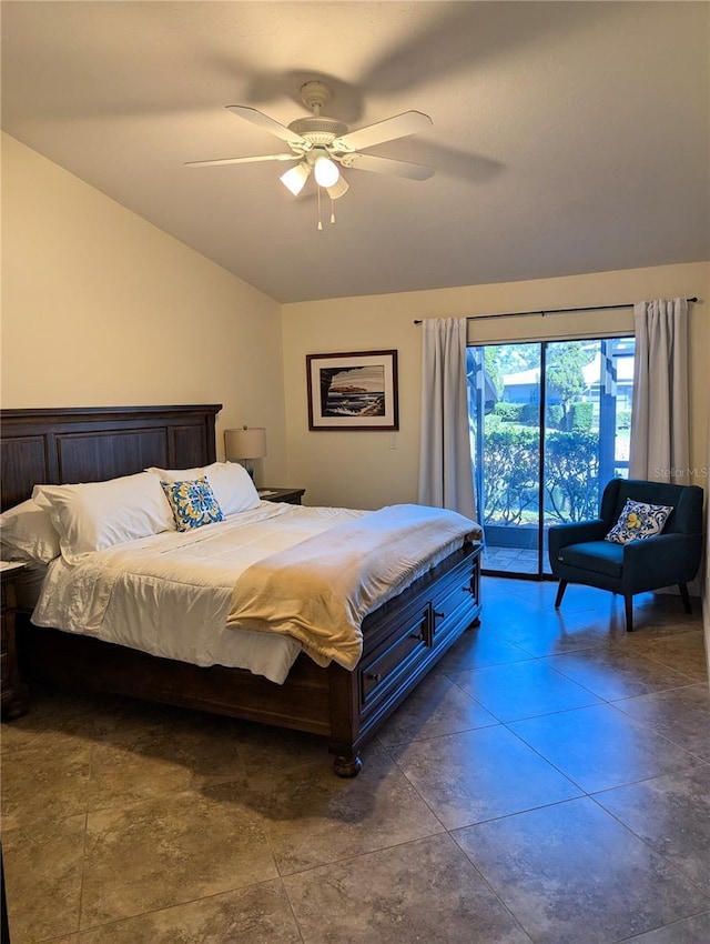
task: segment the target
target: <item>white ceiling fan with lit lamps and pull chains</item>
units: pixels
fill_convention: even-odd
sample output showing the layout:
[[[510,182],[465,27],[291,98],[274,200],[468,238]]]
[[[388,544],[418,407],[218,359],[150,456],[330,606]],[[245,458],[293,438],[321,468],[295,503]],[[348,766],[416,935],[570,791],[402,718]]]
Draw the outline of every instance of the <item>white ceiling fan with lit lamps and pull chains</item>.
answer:
[[[297,197],[313,172],[318,188],[326,190],[332,200],[337,200],[348,190],[348,183],[341,174],[339,167],[393,174],[408,180],[426,180],[435,172],[434,168],[424,164],[361,153],[361,151],[373,148],[375,144],[425,131],[434,123],[428,114],[420,111],[405,111],[366,128],[348,131],[347,125],[343,124],[342,121],[321,114],[321,110],[331,101],[331,90],[323,82],[305,82],[301,87],[301,100],[307,108],[312,109],[313,114],[308,118],[297,118],[287,127],[250,106],[230,104],[226,107],[240,118],[244,118],[257,128],[281,138],[282,141],[286,142],[288,152],[223,158],[213,161],[189,161],[185,167],[246,164],[256,161],[297,161],[295,167],[290,168],[281,175],[280,179],[284,187],[294,197]],[[333,218],[332,221],[334,221]]]

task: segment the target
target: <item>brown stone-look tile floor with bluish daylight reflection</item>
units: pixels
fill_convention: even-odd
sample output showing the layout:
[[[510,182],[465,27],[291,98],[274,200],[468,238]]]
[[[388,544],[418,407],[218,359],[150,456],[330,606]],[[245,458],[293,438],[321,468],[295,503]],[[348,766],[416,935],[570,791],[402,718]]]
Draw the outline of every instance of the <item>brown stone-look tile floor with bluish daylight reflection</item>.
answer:
[[[321,741],[109,697],[2,726],[12,944],[708,944],[698,614],[485,578],[338,780]]]

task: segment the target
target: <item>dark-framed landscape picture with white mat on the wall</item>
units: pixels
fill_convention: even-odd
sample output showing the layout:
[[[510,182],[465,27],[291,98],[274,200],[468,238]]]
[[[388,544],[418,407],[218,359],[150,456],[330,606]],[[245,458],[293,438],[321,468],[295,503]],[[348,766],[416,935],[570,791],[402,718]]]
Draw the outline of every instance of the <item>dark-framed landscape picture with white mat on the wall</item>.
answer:
[[[397,352],[306,354],[310,430],[398,430]]]

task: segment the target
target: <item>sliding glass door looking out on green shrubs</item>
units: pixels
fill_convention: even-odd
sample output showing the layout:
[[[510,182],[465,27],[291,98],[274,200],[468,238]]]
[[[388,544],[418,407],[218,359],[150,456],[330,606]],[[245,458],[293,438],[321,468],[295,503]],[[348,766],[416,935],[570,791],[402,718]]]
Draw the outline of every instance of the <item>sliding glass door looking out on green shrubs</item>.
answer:
[[[632,338],[468,349],[485,570],[541,578],[547,529],[596,516],[628,474],[632,385]]]

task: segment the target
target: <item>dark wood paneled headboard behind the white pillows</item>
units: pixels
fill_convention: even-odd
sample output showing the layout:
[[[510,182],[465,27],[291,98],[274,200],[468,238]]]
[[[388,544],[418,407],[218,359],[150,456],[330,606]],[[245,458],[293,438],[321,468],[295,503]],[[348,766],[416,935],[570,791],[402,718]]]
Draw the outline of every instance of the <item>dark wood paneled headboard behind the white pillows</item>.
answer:
[[[2,508],[40,483],[98,482],[149,465],[214,462],[221,404],[0,411]]]

